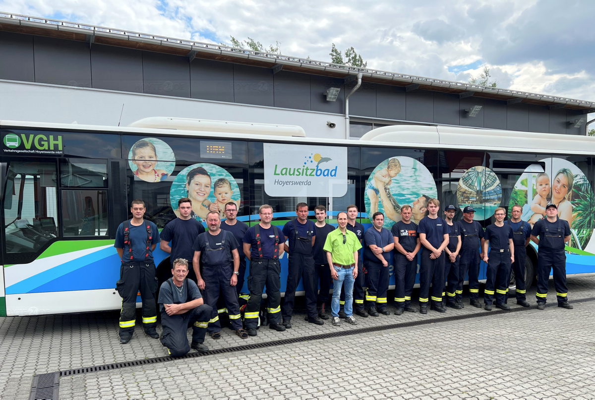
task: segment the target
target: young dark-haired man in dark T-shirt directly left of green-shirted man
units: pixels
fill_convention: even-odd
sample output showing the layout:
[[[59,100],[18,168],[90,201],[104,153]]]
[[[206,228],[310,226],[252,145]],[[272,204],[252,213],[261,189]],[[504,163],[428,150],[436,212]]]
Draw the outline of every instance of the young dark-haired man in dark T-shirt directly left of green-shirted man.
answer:
[[[327,241],[327,236],[330,232],[335,230],[333,225],[326,222],[327,207],[318,205],[314,207],[314,214],[316,216],[316,241],[312,251],[314,252],[314,288],[318,287],[320,282],[320,291],[316,301],[318,309],[318,317],[324,320],[328,319],[325,310],[325,304],[328,302],[331,287],[331,272],[328,265],[327,253],[324,251],[324,244]],[[306,319],[308,317],[306,316]]]

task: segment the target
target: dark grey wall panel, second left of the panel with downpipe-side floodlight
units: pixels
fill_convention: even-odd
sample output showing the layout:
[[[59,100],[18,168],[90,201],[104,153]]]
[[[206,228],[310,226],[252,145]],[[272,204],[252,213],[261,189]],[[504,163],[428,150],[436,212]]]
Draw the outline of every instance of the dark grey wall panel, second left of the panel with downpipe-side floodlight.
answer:
[[[233,65],[234,101],[236,103],[274,106],[273,70]]]

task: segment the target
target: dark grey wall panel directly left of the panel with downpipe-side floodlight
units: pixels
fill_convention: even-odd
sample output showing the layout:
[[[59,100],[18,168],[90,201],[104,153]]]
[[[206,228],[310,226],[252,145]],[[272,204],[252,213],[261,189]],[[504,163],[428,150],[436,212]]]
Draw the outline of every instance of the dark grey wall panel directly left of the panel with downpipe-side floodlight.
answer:
[[[310,110],[310,75],[279,71],[273,81],[275,107]]]

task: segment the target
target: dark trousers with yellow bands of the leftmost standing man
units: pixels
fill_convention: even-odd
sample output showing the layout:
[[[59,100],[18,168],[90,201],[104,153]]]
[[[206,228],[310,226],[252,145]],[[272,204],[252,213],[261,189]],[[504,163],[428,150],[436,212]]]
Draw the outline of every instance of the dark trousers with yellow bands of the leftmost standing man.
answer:
[[[152,260],[135,263],[124,262],[120,267],[120,280],[116,282],[116,290],[122,297],[120,312],[120,336],[132,335],[136,323],[136,295],[140,291],[143,303],[143,329],[155,330],[157,326],[157,308],[155,292],[157,291],[155,263]]]

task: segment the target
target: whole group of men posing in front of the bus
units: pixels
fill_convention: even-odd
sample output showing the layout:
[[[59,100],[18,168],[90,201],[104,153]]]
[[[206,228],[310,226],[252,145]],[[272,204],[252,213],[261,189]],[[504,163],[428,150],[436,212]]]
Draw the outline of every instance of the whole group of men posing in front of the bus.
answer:
[[[394,314],[404,311],[417,313],[411,304],[419,263],[419,312],[429,308],[444,313],[446,307],[464,308],[462,289],[468,275],[470,305],[482,307],[479,300],[480,260],[487,263],[484,289],[486,310],[493,305],[509,310],[508,285],[511,271],[516,277],[516,303],[530,307],[525,298],[525,247],[533,240],[538,245],[537,308],[546,304],[548,280],[553,278],[558,307],[572,308],[566,289],[565,243],[570,238],[568,222],[558,218],[556,204],[546,207],[546,218],[533,228],[521,221],[522,207],[512,207],[512,218],[505,220],[506,210],[498,207],[496,221],[487,228],[474,221],[475,210],[463,209],[464,219],[454,222],[456,207],[444,207],[439,216],[440,202],[427,201],[428,215],[411,221],[411,206],[400,210],[401,221],[392,229],[384,228],[384,215],[371,216],[372,227],[365,230],[356,221],[358,207],[337,214],[337,227],[326,223],[327,210],[315,207],[316,221],[308,220],[308,204],[296,206],[297,218],[282,229],[271,224],[273,207],[264,204],[259,209],[261,221],[253,226],[237,220],[237,205],[227,203],[226,219],[218,212],[206,215],[206,231],[192,217],[192,200],[180,199],[179,217],[168,223],[161,235],[154,223],[146,221],[145,203],[133,200],[133,218],[118,226],[114,247],[121,258],[120,280],[116,284],[123,298],[120,314],[120,343],[130,341],[136,324],[136,297],[142,299],[142,322],[146,335],[160,339],[174,357],[190,349],[208,351],[206,333],[212,339],[221,338],[219,315],[227,313],[231,328],[242,339],[258,335],[259,325],[268,322],[270,329],[282,332],[292,327],[295,292],[300,281],[305,291],[306,321],[324,325],[329,317],[325,305],[330,297],[331,323],[340,320],[356,325],[353,316],[389,315],[389,256],[394,251],[395,292]],[[287,240],[287,242],[286,242]],[[172,277],[158,281],[152,251],[159,244],[170,253]],[[363,247],[363,251],[361,251]],[[289,254],[287,286],[281,306],[281,255]],[[250,261],[249,295],[241,293]],[[267,298],[262,300],[266,286]],[[319,291],[320,286],[320,291]],[[220,301],[224,300],[223,301]],[[246,303],[247,302],[247,303]],[[224,303],[223,308],[217,307]],[[246,303],[243,322],[240,303]],[[162,333],[156,332],[156,304],[161,313]],[[355,308],[355,310],[354,310]],[[186,332],[192,326],[192,343]]]

